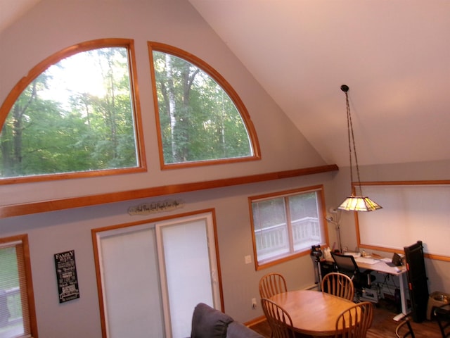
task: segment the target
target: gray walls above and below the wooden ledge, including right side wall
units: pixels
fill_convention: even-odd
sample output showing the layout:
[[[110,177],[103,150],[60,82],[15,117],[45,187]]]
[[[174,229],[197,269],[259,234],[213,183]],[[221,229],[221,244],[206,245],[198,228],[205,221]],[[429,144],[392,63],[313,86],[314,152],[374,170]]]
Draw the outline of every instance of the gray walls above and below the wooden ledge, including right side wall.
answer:
[[[42,0],[30,13],[0,34],[0,49],[7,51],[0,54],[0,102],[4,101],[23,75],[47,56],[72,44],[103,37],[135,39],[148,173],[3,185],[0,186],[0,204],[200,182],[326,164],[248,70],[231,54],[226,44],[191,8],[188,1]],[[261,161],[164,172],[160,170],[146,46],[148,40],[172,44],[203,58],[231,83],[255,123],[262,150]],[[449,161],[383,165],[363,168],[361,178],[367,181],[435,180],[446,178],[448,169]],[[283,273],[288,280],[289,289],[308,287],[314,283],[313,265],[309,256],[258,272],[253,264],[244,263],[244,256],[252,256],[248,196],[315,184],[325,186],[327,209],[336,206],[350,189],[349,175],[346,168],[343,168],[339,173],[169,196],[183,199],[186,203],[183,209],[169,214],[215,208],[224,306],[236,320],[248,321],[262,315],[260,308],[251,308],[250,300],[258,298],[259,277],[269,271]],[[161,199],[166,198],[164,196]],[[160,199],[154,198],[145,201],[158,200]],[[1,237],[29,234],[40,337],[101,336],[91,229],[142,219],[143,216],[128,215],[127,208],[143,201],[0,220]],[[330,227],[329,235],[330,244],[333,244],[333,227]],[[356,246],[351,214],[342,218],[342,242],[349,248]],[[81,297],[59,304],[53,254],[71,249],[75,249],[77,256]],[[439,289],[450,292],[447,282],[450,277],[449,263],[428,261],[427,265],[430,291]]]

